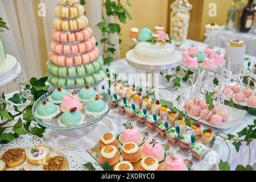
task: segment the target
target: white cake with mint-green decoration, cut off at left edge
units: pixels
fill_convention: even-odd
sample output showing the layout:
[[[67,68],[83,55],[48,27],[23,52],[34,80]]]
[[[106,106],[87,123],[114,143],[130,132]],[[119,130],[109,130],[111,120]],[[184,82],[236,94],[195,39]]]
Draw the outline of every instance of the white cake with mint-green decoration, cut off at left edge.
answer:
[[[5,43],[0,36],[0,82],[12,76],[17,68],[16,58],[6,54]]]

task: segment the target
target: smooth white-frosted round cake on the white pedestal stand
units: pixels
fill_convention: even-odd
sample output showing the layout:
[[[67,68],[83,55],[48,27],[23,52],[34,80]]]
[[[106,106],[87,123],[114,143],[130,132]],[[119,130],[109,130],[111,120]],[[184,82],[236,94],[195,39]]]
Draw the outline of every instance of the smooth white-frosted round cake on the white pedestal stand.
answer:
[[[175,55],[175,48],[170,43],[151,44],[138,43],[134,48],[134,57],[140,61],[164,62],[170,61]]]

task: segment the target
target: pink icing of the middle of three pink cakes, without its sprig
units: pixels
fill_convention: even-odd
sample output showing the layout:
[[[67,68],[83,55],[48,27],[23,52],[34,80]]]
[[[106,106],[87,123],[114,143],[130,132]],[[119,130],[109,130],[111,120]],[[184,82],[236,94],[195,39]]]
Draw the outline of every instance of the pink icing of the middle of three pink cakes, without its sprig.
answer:
[[[159,156],[163,155],[163,147],[160,144],[159,140],[156,139],[155,146],[153,148],[153,144],[150,144],[152,142],[152,139],[147,139],[146,142],[143,145],[142,152],[146,156],[152,156],[154,158],[158,158]]]

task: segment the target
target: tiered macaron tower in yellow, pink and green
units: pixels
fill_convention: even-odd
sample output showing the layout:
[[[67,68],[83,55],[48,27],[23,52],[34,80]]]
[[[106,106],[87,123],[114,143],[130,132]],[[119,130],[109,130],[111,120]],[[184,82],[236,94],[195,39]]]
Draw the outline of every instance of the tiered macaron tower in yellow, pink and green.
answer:
[[[79,0],[59,0],[53,20],[48,81],[56,86],[94,85],[105,77],[104,60]]]

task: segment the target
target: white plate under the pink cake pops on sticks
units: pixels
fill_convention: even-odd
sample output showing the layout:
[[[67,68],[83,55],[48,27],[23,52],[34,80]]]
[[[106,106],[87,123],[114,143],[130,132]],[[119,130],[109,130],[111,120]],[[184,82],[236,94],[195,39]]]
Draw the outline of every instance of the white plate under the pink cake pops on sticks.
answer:
[[[185,111],[185,109],[184,109],[185,101],[180,100],[179,103],[180,104],[177,104],[177,109]],[[181,103],[183,103],[183,104],[181,104]],[[201,119],[200,122],[204,123],[205,125],[219,129],[219,130],[228,130],[231,127],[235,126],[240,121],[240,119],[242,119],[246,114],[245,110],[236,109],[236,108],[229,107],[226,105],[224,106],[224,110],[226,111],[226,113],[229,114],[229,118],[228,118],[228,121],[222,122],[221,126],[211,125],[210,122],[204,121],[203,119]],[[192,116],[190,114],[188,114],[188,115],[189,115],[189,117],[195,119],[196,121],[201,118],[201,117]]]

